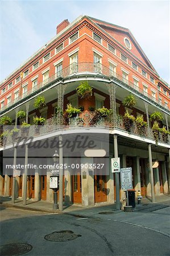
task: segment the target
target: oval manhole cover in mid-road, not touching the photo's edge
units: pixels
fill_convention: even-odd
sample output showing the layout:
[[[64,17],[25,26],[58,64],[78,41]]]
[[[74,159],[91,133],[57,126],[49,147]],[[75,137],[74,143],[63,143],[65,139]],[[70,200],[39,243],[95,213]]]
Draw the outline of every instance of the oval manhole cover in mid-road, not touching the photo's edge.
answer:
[[[69,230],[63,230],[63,231],[47,234],[44,238],[45,240],[48,240],[48,241],[65,242],[65,241],[74,240],[77,237],[81,237],[81,235],[74,234],[74,232]]]

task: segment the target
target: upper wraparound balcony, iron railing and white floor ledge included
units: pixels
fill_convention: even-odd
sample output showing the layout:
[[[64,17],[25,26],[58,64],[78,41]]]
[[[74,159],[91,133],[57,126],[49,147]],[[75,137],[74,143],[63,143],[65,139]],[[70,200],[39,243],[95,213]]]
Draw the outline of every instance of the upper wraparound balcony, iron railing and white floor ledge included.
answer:
[[[122,76],[114,73],[109,68],[105,67],[100,63],[73,63],[68,67],[64,68],[62,71],[55,73],[47,80],[40,82],[38,85],[34,87],[34,89],[30,89],[27,93],[24,93],[22,96],[19,96],[15,100],[11,101],[9,104],[3,106],[1,108],[1,114],[5,113],[6,110],[10,110],[19,104],[22,104],[24,101],[28,100],[29,98],[33,97],[34,95],[38,94],[39,92],[43,91],[44,89],[48,88],[52,84],[55,84],[56,81],[64,81],[64,80],[71,80],[77,76],[85,77],[85,76],[95,76],[95,77],[104,77],[108,80],[108,82],[113,81],[115,84],[119,86],[123,86],[126,89],[130,90],[130,92],[135,92],[140,98],[143,100],[147,100],[152,102],[152,104],[161,107],[163,110],[166,110],[170,114],[169,108],[167,105],[164,105],[159,100],[152,97],[147,92],[144,92],[138,86],[133,84],[132,82],[125,80]]]

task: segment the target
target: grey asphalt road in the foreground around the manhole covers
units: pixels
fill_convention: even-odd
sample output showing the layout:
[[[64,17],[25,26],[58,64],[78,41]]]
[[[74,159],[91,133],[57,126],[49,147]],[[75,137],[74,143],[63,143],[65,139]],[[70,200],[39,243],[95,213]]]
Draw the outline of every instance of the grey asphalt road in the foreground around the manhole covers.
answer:
[[[54,242],[45,235],[67,230],[75,240]],[[1,208],[1,246],[29,243],[25,255],[170,255],[169,237],[106,218],[81,218]]]

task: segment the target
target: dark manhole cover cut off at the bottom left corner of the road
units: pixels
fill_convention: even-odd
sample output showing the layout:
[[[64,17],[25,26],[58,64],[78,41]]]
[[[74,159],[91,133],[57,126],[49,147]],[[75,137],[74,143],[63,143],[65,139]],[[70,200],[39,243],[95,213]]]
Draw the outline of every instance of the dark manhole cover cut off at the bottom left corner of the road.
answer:
[[[9,243],[1,246],[2,256],[22,255],[32,250],[32,245],[28,243]]]

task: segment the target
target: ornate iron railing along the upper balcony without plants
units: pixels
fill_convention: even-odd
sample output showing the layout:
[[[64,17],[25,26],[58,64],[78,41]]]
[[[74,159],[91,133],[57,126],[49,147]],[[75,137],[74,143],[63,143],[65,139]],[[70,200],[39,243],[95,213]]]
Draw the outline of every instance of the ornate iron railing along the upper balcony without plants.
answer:
[[[168,109],[168,106],[164,105],[162,102],[157,100],[155,97],[152,97],[149,93],[144,92],[143,89],[140,89],[138,86],[133,84],[132,82],[124,79],[122,76],[120,76],[118,73],[114,73],[111,71],[111,69],[105,67],[104,65],[100,63],[73,63],[69,65],[68,67],[64,68],[62,71],[59,71],[49,77],[47,80],[44,80],[43,82],[40,82],[38,85],[36,85],[34,88],[28,90],[26,93],[22,94],[22,96],[19,96],[18,98],[15,98],[15,100],[11,101],[9,104],[3,106],[1,108],[1,112],[5,112],[6,109],[10,108],[11,106],[18,104],[19,102],[24,101],[24,99],[31,97],[33,94],[36,94],[39,90],[43,89],[44,87],[51,85],[56,80],[59,79],[67,79],[71,78],[77,75],[85,75],[85,74],[93,74],[95,76],[104,76],[108,79],[112,79],[113,81],[119,81],[123,83],[126,88],[130,89],[132,88],[135,90],[137,94],[141,96],[141,94],[144,96],[144,98],[150,99],[151,101],[155,102],[156,104],[159,104],[165,109]],[[169,110],[169,109],[168,109]],[[170,111],[169,111],[170,113]]]

